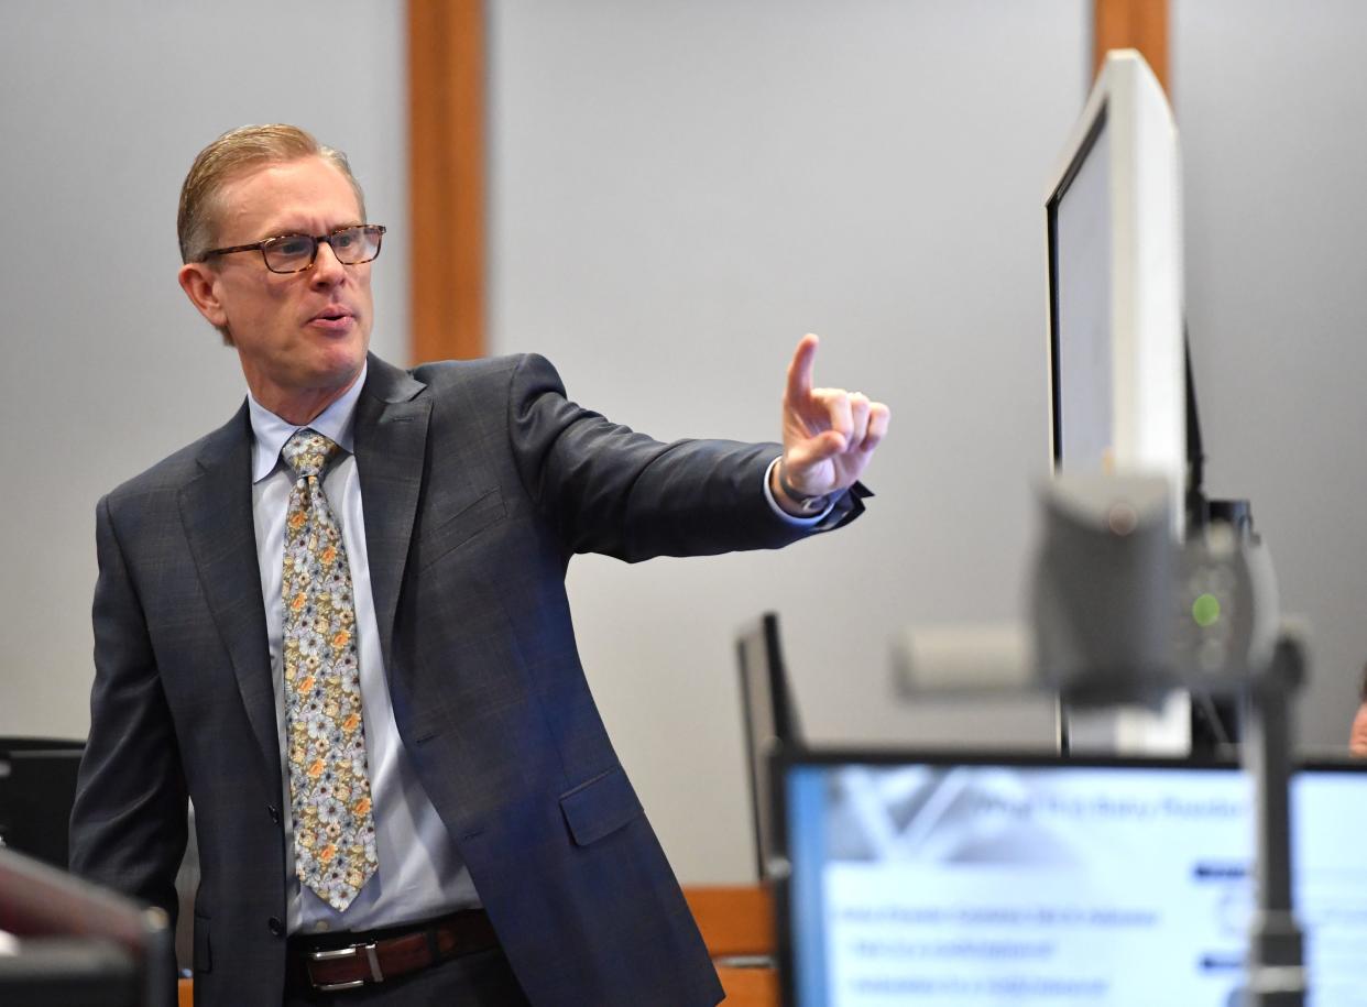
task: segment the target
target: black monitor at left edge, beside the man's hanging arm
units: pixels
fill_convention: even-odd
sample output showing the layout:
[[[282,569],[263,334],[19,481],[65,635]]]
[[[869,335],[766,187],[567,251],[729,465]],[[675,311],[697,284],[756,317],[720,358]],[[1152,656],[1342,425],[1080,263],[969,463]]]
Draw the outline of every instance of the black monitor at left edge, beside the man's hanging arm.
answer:
[[[0,846],[66,870],[82,742],[0,738]]]

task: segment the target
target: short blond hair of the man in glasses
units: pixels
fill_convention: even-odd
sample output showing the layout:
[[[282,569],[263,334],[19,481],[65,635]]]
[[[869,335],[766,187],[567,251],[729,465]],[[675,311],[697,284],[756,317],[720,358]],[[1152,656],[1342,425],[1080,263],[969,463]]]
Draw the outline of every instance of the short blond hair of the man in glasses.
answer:
[[[223,186],[247,168],[284,164],[301,157],[321,157],[340,171],[351,183],[361,220],[365,220],[365,195],[361,183],[351,174],[346,154],[324,146],[310,133],[298,126],[272,123],[269,126],[241,126],[209,143],[190,165],[190,174],[180,186],[180,208],[176,213],[176,234],[180,239],[180,261],[198,262],[217,245],[219,194]],[[268,235],[261,235],[262,238]]]

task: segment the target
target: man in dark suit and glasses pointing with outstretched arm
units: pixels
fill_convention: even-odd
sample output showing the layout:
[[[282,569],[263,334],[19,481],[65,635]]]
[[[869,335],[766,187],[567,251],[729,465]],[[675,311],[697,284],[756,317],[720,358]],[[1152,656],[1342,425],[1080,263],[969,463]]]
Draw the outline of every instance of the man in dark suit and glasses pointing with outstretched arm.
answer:
[[[539,357],[368,354],[346,158],[224,134],[180,286],[238,351],[223,428],[100,501],[72,869],[175,910],[200,1004],[712,1004],[574,646],[576,552],[776,548],[853,518],[889,413],[789,368],[783,444],[660,444]]]

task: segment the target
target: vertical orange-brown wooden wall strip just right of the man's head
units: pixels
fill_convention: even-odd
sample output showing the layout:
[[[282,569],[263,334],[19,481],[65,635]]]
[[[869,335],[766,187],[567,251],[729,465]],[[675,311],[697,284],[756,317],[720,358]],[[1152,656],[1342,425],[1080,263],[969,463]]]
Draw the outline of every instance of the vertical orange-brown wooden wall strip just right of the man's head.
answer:
[[[484,3],[409,0],[413,359],[484,354]]]

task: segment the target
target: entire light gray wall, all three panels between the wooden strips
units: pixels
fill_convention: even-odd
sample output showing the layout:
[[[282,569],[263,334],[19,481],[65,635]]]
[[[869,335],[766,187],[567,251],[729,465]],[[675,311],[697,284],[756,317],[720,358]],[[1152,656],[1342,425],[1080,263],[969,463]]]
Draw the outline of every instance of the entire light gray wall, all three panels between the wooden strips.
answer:
[[[580,644],[678,869],[749,874],[735,627],[785,620],[824,739],[1010,743],[1040,706],[908,711],[890,633],[1017,611],[1043,474],[1046,178],[1084,0],[504,1],[491,10],[495,350],[658,436],[772,437],[797,337],[894,407],[868,516],[782,553],[578,560]],[[220,424],[231,351],[175,287],[194,153],[295,120],[406,213],[402,5],[11,0],[0,30],[0,732],[83,734],[98,495]],[[1367,659],[1353,501],[1367,112],[1352,3],[1174,0],[1189,313],[1211,488],[1254,499],[1316,624],[1307,736]],[[338,82],[336,60],[364,53]],[[308,66],[275,75],[284,60]],[[354,66],[354,63],[349,64]],[[287,83],[282,83],[282,81]],[[405,357],[406,242],[375,272]]]

